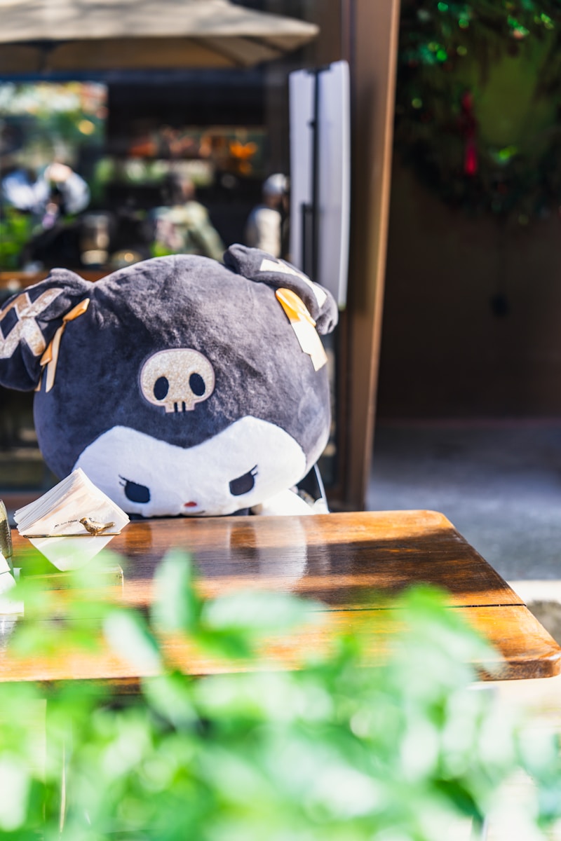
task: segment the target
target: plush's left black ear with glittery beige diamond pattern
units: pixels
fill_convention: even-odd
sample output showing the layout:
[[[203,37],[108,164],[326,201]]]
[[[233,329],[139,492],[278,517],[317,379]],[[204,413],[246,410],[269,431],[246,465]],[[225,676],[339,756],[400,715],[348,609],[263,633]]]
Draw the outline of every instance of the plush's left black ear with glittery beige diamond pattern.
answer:
[[[57,268],[6,301],[0,309],[0,385],[19,391],[35,388],[47,346],[91,288],[92,283],[74,272]]]

